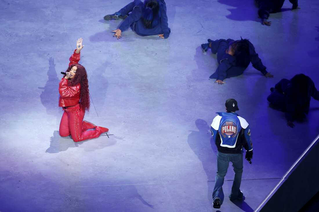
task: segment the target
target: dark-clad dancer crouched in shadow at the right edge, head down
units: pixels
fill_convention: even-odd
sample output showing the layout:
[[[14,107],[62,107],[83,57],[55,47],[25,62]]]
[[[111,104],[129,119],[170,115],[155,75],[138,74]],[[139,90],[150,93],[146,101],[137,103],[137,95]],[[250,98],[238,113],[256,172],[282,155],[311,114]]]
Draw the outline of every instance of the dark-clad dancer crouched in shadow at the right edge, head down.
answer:
[[[282,79],[270,90],[267,100],[273,108],[286,112],[287,125],[291,128],[294,120],[302,121],[308,114],[311,96],[319,101],[319,91],[305,74],[297,74],[291,80]]]

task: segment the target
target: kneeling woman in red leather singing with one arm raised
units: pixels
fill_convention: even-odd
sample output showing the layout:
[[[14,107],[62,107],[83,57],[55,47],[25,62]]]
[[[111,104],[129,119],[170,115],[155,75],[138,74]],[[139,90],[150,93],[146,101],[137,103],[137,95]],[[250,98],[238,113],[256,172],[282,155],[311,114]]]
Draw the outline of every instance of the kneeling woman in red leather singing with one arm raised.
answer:
[[[86,70],[78,64],[80,51],[83,48],[82,40],[82,38],[77,40],[77,49],[70,57],[69,68],[59,84],[59,107],[64,110],[60,123],[60,136],[71,135],[75,142],[97,138],[108,131],[108,128],[83,121],[85,110],[90,108],[90,95]],[[87,131],[88,129],[94,130]]]

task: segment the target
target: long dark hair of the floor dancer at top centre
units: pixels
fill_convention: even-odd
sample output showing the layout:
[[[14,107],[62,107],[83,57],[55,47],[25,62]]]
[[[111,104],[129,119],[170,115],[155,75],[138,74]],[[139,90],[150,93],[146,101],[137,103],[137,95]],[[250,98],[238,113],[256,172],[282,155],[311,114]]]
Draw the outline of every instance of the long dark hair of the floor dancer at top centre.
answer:
[[[159,22],[159,3],[157,0],[145,0],[142,14],[143,24],[146,28],[153,28]],[[155,23],[156,22],[156,23]]]

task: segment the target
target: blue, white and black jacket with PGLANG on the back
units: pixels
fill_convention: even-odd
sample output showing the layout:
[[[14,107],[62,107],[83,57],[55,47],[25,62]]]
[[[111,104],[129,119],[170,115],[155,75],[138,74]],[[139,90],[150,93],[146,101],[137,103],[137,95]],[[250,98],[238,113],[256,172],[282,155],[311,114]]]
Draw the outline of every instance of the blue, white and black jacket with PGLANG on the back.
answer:
[[[242,147],[253,150],[247,121],[237,113],[218,112],[211,123],[211,135],[222,153],[241,154]]]

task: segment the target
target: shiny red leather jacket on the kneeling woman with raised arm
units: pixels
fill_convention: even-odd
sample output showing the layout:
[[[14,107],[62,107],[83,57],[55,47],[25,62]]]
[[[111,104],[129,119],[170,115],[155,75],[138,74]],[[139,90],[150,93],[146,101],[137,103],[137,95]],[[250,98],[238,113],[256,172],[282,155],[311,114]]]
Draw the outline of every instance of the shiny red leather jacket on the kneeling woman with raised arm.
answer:
[[[80,60],[80,53],[76,53],[74,50],[73,54],[70,57],[69,66],[72,64],[78,64]],[[81,95],[81,85],[77,84],[76,86],[68,86],[68,80],[61,79],[59,83],[59,107],[69,107],[79,103]]]

